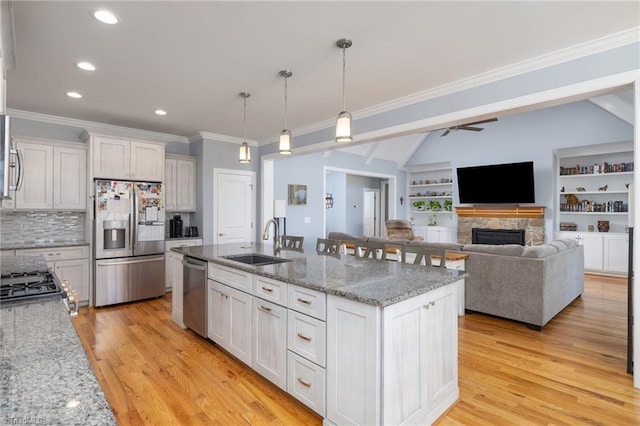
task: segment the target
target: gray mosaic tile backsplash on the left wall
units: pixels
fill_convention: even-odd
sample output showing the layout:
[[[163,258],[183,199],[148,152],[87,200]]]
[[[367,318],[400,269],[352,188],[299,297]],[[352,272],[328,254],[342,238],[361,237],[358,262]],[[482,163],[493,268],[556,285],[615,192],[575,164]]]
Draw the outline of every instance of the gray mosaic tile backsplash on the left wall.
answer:
[[[2,245],[50,241],[84,242],[85,213],[0,211],[0,240]]]

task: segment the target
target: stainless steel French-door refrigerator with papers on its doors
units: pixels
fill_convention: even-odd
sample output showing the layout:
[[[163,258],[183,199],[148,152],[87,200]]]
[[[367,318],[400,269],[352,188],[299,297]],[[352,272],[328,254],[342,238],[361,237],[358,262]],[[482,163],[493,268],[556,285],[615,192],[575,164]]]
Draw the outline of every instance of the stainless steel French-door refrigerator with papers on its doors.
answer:
[[[95,306],[164,295],[161,182],[94,181]]]

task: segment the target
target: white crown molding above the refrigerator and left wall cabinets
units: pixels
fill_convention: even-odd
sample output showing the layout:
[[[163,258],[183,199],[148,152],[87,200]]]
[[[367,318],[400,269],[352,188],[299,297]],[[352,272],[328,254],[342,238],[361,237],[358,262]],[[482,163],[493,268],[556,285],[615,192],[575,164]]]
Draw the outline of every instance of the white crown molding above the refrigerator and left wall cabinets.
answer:
[[[63,126],[80,127],[90,133],[106,133],[113,136],[143,139],[154,142],[183,142],[189,140],[184,136],[172,135],[169,133],[152,132],[149,130],[134,129],[132,127],[116,126],[113,124],[96,123],[94,121],[78,120],[75,118],[60,117],[57,115],[41,114],[38,112],[22,111],[19,109],[8,109],[7,113],[11,117],[24,120],[41,121],[44,123],[61,124]]]

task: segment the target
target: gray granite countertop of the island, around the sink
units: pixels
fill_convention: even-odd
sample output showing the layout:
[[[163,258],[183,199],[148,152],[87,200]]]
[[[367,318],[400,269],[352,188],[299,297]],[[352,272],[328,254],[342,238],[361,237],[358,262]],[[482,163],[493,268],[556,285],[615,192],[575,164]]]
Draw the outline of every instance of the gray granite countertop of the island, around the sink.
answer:
[[[315,243],[315,242],[314,242]],[[230,266],[257,275],[345,297],[374,306],[388,306],[451,284],[469,274],[465,271],[411,265],[395,261],[339,259],[323,256],[313,246],[303,253],[283,250],[278,257],[290,260],[275,265],[252,266],[222,256],[260,253],[273,255],[271,245],[223,244],[172,249],[187,256]]]

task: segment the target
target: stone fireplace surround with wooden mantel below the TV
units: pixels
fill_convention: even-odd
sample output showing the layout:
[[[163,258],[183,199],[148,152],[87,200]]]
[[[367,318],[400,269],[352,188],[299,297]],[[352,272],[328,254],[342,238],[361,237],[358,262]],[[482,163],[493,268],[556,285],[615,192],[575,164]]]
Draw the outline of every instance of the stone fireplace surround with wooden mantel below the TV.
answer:
[[[458,243],[471,244],[472,229],[524,230],[525,245],[544,243],[544,207],[456,207]]]

